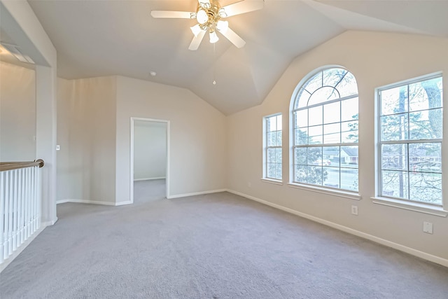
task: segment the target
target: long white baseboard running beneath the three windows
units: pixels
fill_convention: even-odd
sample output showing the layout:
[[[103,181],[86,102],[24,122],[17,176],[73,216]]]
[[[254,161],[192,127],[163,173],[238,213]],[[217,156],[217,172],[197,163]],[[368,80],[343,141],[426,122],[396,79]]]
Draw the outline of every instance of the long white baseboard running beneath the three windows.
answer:
[[[370,241],[379,243],[381,245],[388,246],[388,247],[391,247],[393,249],[397,249],[399,251],[403,251],[405,253],[409,253],[412,256],[417,256],[419,258],[423,258],[424,260],[429,260],[430,262],[437,263],[437,264],[442,265],[444,267],[448,267],[448,260],[445,259],[445,258],[440,258],[440,256],[433,256],[430,253],[419,251],[417,249],[413,249],[411,247],[407,247],[407,246],[404,246],[402,244],[391,242],[391,241],[388,241],[386,239],[381,239],[380,237],[376,237],[374,235],[369,235],[369,234],[367,234],[365,232],[360,232],[359,230],[353,230],[353,228],[347,228],[344,225],[339,225],[337,223],[333,223],[331,221],[327,221],[327,220],[324,220],[324,219],[321,219],[321,218],[318,218],[318,217],[315,217],[315,216],[311,216],[309,214],[304,214],[304,213],[302,213],[300,211],[295,211],[294,209],[283,207],[283,206],[281,206],[279,204],[274,204],[274,203],[268,202],[266,200],[260,200],[260,198],[253,197],[251,195],[247,195],[247,194],[240,193],[240,192],[237,192],[237,191],[234,191],[234,190],[229,190],[229,189],[227,191],[230,192],[230,193],[242,196],[242,197],[246,197],[249,200],[255,200],[255,202],[260,202],[260,203],[266,204],[266,205],[268,205],[270,207],[274,207],[276,209],[281,209],[282,211],[286,211],[286,212],[288,212],[290,214],[294,214],[294,215],[300,216],[302,218],[307,218],[307,219],[309,219],[311,221],[322,223],[323,225],[330,226],[331,228],[336,228],[337,230],[342,230],[343,232],[348,232],[351,235],[356,235],[356,236],[362,237],[364,239],[369,239]]]

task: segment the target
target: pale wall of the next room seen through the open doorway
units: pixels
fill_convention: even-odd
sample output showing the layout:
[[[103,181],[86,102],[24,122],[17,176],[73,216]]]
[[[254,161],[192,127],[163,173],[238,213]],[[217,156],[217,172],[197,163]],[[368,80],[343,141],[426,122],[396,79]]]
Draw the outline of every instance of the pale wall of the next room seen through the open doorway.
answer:
[[[134,181],[167,175],[167,123],[134,121]]]

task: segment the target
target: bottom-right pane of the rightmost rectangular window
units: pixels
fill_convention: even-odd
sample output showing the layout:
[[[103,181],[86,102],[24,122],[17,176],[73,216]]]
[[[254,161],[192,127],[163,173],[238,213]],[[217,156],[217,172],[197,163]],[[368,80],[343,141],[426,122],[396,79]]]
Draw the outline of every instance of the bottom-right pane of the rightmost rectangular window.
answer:
[[[442,204],[442,174],[411,172],[409,183],[410,200]]]

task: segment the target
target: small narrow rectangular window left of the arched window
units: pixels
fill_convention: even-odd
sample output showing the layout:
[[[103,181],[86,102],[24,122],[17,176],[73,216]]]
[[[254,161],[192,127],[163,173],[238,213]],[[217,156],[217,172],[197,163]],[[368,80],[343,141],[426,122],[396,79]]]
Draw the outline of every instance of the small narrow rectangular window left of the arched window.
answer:
[[[265,179],[281,180],[281,114],[266,116],[265,127]]]

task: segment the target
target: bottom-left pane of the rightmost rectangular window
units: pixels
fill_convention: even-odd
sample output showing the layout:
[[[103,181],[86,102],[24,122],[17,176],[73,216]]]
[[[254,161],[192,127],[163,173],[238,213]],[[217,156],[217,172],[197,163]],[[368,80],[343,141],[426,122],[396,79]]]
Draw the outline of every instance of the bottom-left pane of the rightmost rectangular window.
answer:
[[[407,172],[381,171],[382,196],[408,199]]]

